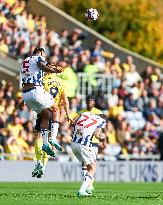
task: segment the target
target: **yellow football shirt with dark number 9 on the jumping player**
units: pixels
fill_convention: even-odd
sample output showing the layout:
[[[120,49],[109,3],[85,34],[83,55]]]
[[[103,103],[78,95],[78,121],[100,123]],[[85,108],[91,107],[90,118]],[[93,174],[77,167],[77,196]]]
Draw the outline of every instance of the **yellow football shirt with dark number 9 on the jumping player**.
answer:
[[[43,83],[45,90],[53,96],[55,103],[60,107],[62,104],[61,96],[65,89],[64,81],[55,73],[50,73],[44,76]]]

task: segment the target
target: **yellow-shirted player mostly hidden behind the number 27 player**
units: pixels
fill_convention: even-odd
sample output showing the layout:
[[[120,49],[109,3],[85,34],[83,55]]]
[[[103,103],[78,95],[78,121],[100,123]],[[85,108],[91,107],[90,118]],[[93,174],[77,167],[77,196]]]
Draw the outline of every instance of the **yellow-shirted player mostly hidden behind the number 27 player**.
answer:
[[[95,115],[102,115],[103,114],[101,110],[99,110],[95,107],[94,96],[89,95],[86,97],[86,105],[87,105],[87,107],[85,109],[80,110],[78,114],[81,114],[83,112],[90,112],[90,113],[95,114]],[[95,136],[93,136],[92,146],[95,150],[96,156],[98,154],[98,144],[99,144],[99,139],[97,139]],[[82,166],[82,178],[83,178],[83,180],[85,179],[86,174],[87,174],[87,168],[83,165]],[[90,191],[92,191],[94,189],[93,181],[94,181],[94,179],[92,180],[92,182],[90,184],[90,187],[89,187]]]

